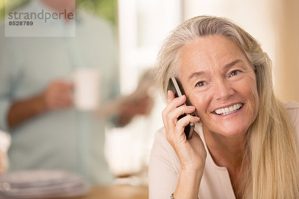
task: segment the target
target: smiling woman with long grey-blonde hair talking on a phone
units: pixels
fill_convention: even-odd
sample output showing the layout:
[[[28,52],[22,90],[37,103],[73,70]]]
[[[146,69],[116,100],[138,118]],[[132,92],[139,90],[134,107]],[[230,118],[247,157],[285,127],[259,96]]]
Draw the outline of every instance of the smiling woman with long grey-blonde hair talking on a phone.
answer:
[[[156,72],[167,106],[150,199],[299,198],[299,104],[276,98],[271,61],[251,35],[227,18],[191,18],[165,40]],[[170,77],[185,96],[166,93]],[[189,122],[197,133],[186,140]]]

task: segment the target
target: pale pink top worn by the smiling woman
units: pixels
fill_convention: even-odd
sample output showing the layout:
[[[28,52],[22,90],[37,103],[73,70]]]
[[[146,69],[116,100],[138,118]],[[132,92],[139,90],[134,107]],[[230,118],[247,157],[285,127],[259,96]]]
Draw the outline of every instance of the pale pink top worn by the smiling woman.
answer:
[[[285,106],[299,139],[299,103],[289,101]],[[195,131],[201,137],[207,151],[198,198],[235,199],[226,167],[217,166],[207,150],[201,123],[196,123]],[[165,138],[164,128],[161,128],[155,134],[149,159],[149,199],[170,199],[170,194],[175,191],[178,182],[179,171],[179,160]]]

